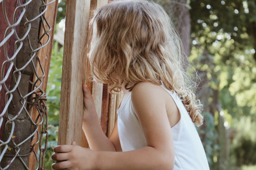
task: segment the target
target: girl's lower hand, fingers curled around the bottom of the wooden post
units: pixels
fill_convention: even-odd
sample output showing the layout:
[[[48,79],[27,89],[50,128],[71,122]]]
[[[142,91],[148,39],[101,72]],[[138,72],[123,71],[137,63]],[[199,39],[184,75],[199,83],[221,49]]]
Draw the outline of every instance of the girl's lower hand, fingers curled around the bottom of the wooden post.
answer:
[[[52,168],[71,170],[89,170],[94,169],[96,161],[96,152],[77,146],[75,142],[72,145],[59,145],[54,147],[52,159],[57,163],[52,164]]]

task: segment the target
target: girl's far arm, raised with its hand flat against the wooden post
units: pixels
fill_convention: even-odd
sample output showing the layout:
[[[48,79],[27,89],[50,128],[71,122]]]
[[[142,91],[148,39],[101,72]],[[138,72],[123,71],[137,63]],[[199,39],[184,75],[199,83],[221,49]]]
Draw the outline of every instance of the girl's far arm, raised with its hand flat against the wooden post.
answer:
[[[84,94],[84,115],[83,115],[83,131],[88,140],[89,146],[95,151],[121,151],[120,141],[117,131],[117,123],[109,139],[103,133],[99,123],[98,115],[90,90],[83,84]]]

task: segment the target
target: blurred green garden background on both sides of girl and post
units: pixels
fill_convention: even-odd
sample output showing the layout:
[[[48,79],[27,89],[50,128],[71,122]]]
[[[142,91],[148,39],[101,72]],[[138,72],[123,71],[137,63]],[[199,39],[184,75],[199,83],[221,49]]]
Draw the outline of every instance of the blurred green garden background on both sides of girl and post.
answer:
[[[256,170],[256,0],[157,0],[170,15],[189,63],[205,123],[198,128],[211,170]],[[59,0],[46,95],[49,142],[57,145],[66,0]],[[192,75],[192,69],[189,69]]]

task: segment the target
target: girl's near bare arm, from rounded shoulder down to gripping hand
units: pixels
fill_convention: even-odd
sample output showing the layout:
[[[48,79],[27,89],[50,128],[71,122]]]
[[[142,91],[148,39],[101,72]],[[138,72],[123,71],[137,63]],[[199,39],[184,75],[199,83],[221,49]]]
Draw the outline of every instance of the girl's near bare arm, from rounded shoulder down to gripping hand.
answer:
[[[169,170],[174,166],[172,131],[166,113],[166,92],[151,83],[139,83],[132,90],[133,109],[142,125],[147,147],[128,152],[93,151],[79,146],[54,148],[54,169]],[[176,107],[175,105],[173,107]],[[64,152],[64,153],[61,153]],[[65,161],[64,161],[65,160]]]

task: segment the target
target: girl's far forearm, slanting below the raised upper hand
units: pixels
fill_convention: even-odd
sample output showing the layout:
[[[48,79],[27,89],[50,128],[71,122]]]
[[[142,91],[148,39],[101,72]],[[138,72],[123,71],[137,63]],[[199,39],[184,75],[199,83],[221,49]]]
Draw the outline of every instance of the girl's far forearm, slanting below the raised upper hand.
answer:
[[[90,120],[83,122],[83,131],[92,150],[116,151],[113,143],[103,133],[97,114],[92,115]]]

